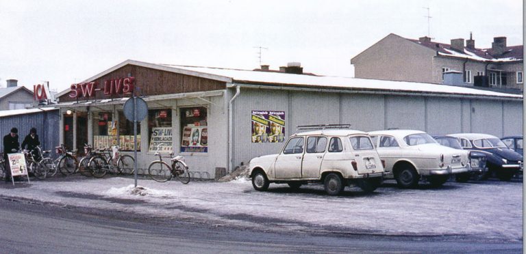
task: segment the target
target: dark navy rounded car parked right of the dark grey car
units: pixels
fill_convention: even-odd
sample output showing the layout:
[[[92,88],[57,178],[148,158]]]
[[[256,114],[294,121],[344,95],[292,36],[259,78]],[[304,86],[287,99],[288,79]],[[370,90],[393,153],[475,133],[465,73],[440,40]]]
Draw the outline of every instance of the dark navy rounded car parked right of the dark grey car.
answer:
[[[460,138],[464,149],[484,152],[488,158],[488,176],[495,175],[509,181],[513,175],[523,170],[523,156],[508,148],[499,138],[480,133],[457,133],[448,136]]]

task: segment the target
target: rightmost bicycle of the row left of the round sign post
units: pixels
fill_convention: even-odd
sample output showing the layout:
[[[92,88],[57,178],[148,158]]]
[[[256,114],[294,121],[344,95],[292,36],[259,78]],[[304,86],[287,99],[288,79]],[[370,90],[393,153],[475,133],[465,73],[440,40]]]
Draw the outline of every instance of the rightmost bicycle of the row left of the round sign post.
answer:
[[[120,147],[113,146],[113,155],[109,148],[96,150],[95,155],[90,158],[88,163],[90,172],[95,178],[103,178],[106,173],[134,172],[135,160],[132,156],[121,155],[118,150]]]

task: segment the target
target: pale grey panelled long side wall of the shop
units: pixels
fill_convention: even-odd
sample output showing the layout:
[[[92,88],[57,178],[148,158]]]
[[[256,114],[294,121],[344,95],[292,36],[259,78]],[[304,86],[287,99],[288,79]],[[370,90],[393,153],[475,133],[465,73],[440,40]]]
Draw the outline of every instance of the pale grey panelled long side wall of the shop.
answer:
[[[289,137],[298,125],[352,124],[356,130],[410,128],[442,135],[482,132],[502,137],[523,132],[523,102],[466,98],[349,94],[242,87],[234,100],[231,168],[279,152],[284,143],[251,143],[251,111],[285,111]]]

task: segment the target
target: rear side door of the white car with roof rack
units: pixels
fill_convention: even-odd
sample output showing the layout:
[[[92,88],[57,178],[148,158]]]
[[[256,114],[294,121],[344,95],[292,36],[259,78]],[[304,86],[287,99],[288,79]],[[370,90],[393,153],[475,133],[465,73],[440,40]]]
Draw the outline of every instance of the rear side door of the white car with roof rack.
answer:
[[[320,178],[321,162],[327,148],[327,137],[308,137],[307,149],[303,154],[303,163],[301,163],[302,178]]]

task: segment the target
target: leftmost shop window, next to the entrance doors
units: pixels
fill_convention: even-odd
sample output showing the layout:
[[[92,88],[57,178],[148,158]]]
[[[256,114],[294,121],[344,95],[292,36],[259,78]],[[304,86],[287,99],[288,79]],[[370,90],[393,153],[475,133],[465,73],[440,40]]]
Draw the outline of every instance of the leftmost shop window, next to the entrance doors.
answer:
[[[112,121],[111,112],[93,113],[93,125],[93,147],[101,149],[117,145],[117,126]]]

